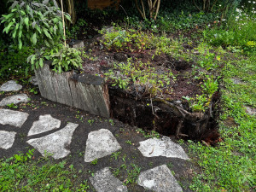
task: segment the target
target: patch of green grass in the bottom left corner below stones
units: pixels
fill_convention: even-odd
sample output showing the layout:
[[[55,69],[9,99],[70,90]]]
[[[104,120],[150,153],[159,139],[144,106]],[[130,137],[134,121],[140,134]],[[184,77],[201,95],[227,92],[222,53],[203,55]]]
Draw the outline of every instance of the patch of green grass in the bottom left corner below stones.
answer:
[[[0,191],[86,191],[87,180],[81,172],[67,166],[65,160],[53,163],[48,158],[34,160],[32,150],[26,154],[0,160]]]

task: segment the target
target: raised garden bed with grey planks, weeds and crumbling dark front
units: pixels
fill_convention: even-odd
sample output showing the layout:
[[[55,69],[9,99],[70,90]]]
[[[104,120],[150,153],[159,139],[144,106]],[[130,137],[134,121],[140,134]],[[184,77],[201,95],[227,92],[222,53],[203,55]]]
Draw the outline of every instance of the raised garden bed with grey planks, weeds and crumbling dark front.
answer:
[[[109,29],[108,32],[114,31]],[[87,51],[84,52],[83,70],[79,72],[81,74],[66,75],[69,87],[74,89],[68,88],[68,93],[61,93],[63,96],[71,96],[73,102],[61,103],[92,114],[113,117],[146,130],[158,131],[166,136],[204,140],[208,144],[218,142],[218,90],[207,95],[202,86],[207,79],[195,78],[198,73],[208,73],[207,70],[200,68],[195,71],[195,67],[192,67],[196,65],[195,61],[178,59],[170,52],[156,54],[157,47],[143,48],[142,42],[129,42],[125,44],[127,49],[123,49],[122,45],[116,49],[104,44],[104,39],[106,35],[84,42],[84,50]],[[198,54],[189,44],[178,46],[183,52]],[[56,75],[51,73],[51,76]],[[97,80],[82,80],[84,76]],[[77,81],[79,86],[72,85]],[[91,87],[96,85],[100,85],[101,89],[92,90]],[[75,89],[78,89],[79,94],[75,93]],[[73,99],[74,95],[78,99]],[[103,102],[99,102],[98,95]],[[76,100],[79,102],[74,102]],[[87,103],[85,107],[83,101]],[[88,108],[91,103],[94,103],[93,107]]]

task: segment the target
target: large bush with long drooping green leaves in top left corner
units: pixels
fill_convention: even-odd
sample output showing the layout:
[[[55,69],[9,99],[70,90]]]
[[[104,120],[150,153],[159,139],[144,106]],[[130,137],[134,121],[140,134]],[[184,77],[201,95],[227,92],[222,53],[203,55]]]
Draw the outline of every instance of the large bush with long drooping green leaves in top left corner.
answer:
[[[25,45],[41,47],[50,46],[63,38],[61,11],[54,2],[10,0],[9,14],[3,15],[3,32],[9,33],[19,48]],[[65,15],[69,18],[68,15]]]

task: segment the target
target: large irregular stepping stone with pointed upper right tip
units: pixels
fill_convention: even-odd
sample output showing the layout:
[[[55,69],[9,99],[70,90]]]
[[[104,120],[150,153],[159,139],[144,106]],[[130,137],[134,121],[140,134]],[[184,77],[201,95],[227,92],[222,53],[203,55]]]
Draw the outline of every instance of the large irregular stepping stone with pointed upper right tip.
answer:
[[[60,131],[56,131],[48,136],[31,139],[26,143],[38,149],[44,157],[48,154],[52,154],[55,160],[61,159],[70,153],[67,146],[71,143],[73,131],[75,131],[78,126],[78,124],[68,123]]]

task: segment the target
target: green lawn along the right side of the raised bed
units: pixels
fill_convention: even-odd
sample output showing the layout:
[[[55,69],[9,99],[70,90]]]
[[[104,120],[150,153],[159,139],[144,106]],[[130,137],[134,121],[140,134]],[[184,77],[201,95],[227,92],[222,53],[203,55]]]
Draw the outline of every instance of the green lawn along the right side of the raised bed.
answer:
[[[190,185],[195,191],[253,191],[256,186],[256,119],[245,109],[256,107],[256,58],[229,58],[221,71],[224,89],[219,131],[224,142],[217,148],[189,143],[190,156],[202,169]],[[235,84],[235,78],[241,79],[242,84]],[[227,119],[234,120],[232,125],[226,125]]]

